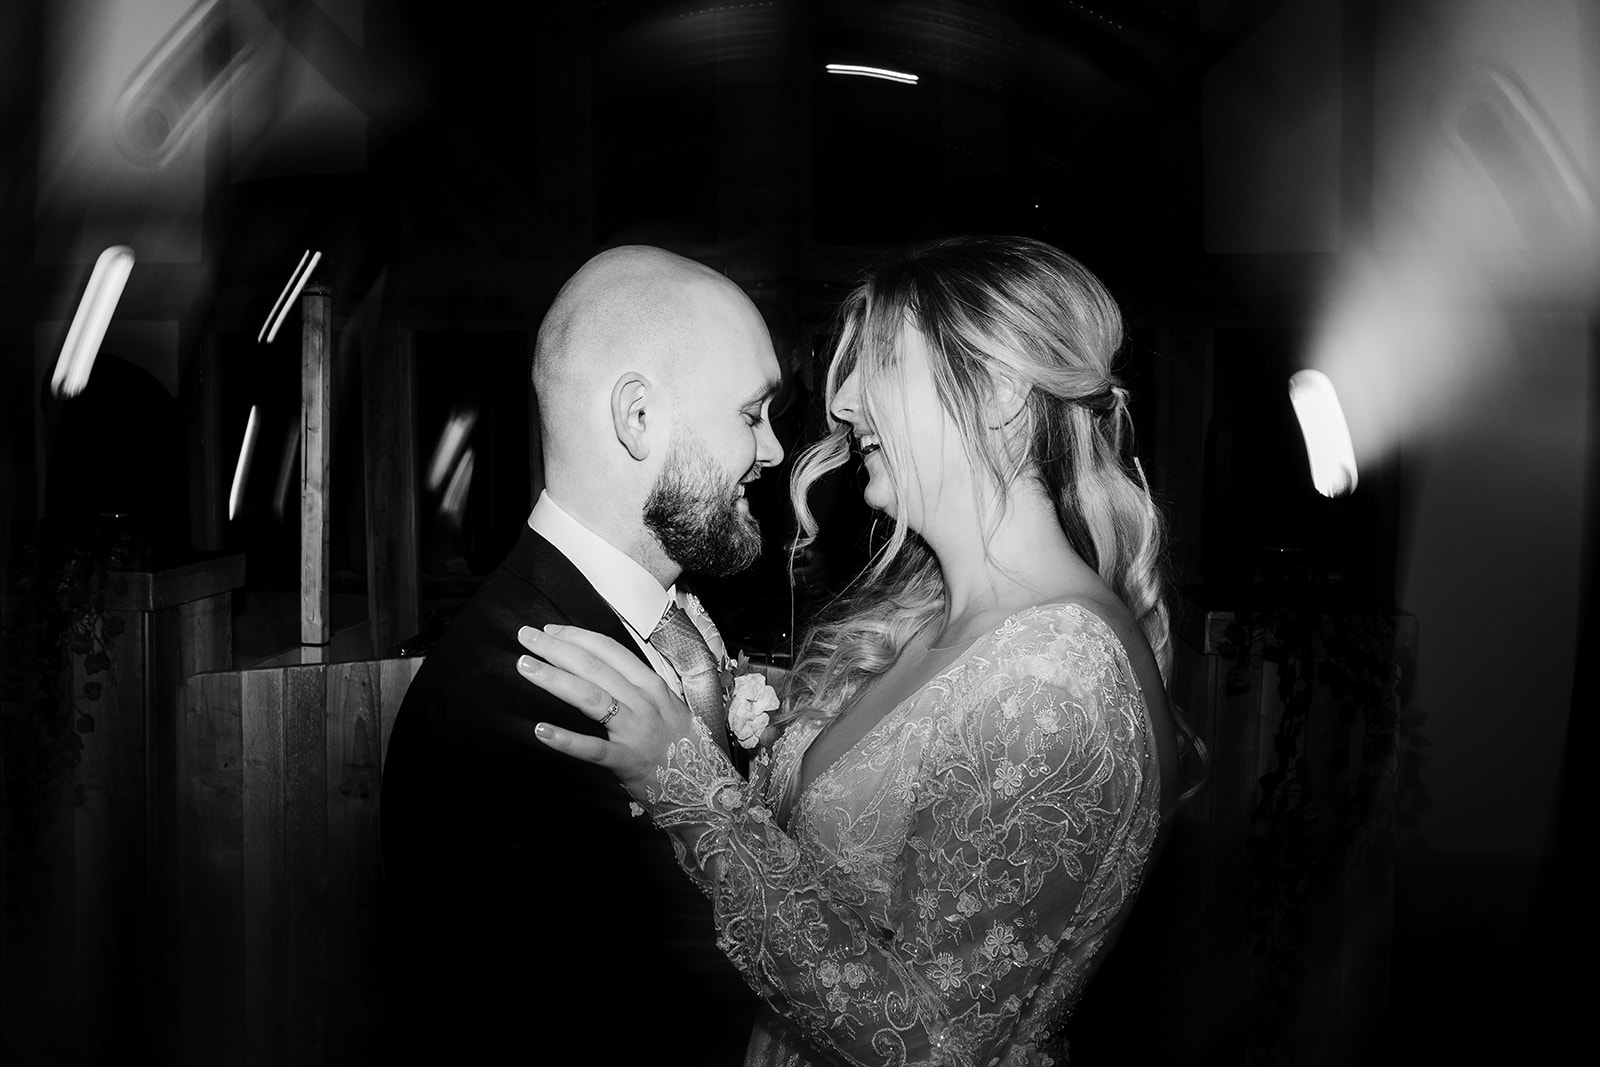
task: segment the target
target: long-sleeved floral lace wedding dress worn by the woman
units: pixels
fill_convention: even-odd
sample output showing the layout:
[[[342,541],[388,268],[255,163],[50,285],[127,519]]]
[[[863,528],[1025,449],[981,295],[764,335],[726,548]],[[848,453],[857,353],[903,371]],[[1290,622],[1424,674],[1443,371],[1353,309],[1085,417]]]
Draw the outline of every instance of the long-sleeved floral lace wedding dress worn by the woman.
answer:
[[[1077,605],[1021,611],[794,797],[698,729],[646,806],[766,1000],[747,1064],[1053,1064],[1158,822],[1138,681]]]

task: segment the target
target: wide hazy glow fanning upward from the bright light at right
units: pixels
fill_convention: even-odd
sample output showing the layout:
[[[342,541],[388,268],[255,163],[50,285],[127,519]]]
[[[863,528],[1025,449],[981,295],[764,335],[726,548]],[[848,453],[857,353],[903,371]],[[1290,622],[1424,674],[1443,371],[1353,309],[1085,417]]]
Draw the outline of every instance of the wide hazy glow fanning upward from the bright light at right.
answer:
[[[1565,43],[1542,48],[1552,64],[1568,59]],[[1518,54],[1538,83],[1530,56],[1541,53]],[[1307,357],[1338,382],[1363,467],[1435,440],[1514,378],[1512,334],[1528,312],[1600,306],[1595,176],[1534,91],[1502,59],[1450,61],[1411,91],[1414,125],[1395,120],[1384,160],[1376,242],[1342,256]],[[1574,122],[1568,136],[1581,138]]]

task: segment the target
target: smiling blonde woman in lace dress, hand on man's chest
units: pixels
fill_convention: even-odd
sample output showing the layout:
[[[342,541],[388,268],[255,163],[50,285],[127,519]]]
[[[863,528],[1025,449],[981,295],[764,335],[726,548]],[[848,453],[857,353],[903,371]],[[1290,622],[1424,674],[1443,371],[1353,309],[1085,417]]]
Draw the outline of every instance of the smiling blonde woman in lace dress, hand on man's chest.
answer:
[[[893,536],[802,643],[749,782],[635,656],[523,630],[522,673],[603,723],[536,736],[610,768],[712,897],[766,1005],[747,1064],[1066,1059],[1179,798],[1120,346],[1104,286],[1032,240],[934,242],[854,290],[794,501],[814,534],[808,486],[856,453]]]

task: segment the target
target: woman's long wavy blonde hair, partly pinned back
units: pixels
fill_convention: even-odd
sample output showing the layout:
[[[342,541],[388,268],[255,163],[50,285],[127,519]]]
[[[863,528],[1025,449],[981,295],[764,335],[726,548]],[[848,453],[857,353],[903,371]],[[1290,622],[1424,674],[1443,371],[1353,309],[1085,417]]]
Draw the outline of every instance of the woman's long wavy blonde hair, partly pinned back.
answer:
[[[974,469],[987,467],[1003,514],[1006,494],[1043,491],[1074,550],[1133,611],[1166,680],[1171,662],[1165,601],[1165,531],[1142,469],[1130,459],[1126,392],[1112,373],[1122,314],[1082,264],[1021,237],[958,237],[910,248],[875,267],[845,299],[827,373],[827,402],[861,371],[867,422],[904,403],[899,339],[922,336],[939,402],[960,427]],[[1002,427],[989,426],[1002,389],[1026,394]],[[901,411],[899,426],[915,413]],[[850,459],[850,426],[795,462],[792,498],[798,545],[816,536],[811,486]],[[882,451],[896,496],[909,470],[899,435]],[[891,534],[870,566],[816,617],[797,649],[782,720],[832,718],[864,683],[944,609],[938,560],[896,507]]]

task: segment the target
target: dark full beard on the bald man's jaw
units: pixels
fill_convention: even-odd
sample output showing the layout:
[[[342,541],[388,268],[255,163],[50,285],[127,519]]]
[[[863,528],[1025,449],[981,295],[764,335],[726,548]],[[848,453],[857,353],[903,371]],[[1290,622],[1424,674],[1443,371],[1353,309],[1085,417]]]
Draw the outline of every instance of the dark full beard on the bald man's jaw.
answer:
[[[739,512],[739,490],[722,488],[723,477],[699,442],[677,438],[645,498],[645,528],[685,571],[723,577],[762,555],[762,528]]]

